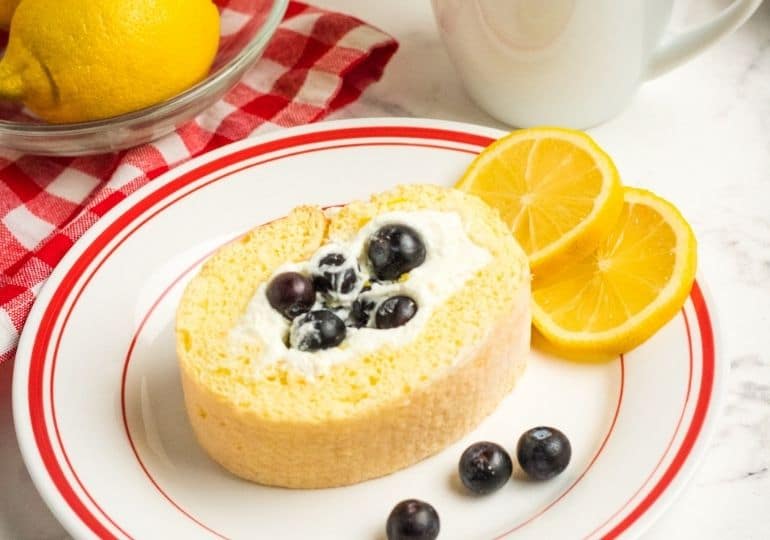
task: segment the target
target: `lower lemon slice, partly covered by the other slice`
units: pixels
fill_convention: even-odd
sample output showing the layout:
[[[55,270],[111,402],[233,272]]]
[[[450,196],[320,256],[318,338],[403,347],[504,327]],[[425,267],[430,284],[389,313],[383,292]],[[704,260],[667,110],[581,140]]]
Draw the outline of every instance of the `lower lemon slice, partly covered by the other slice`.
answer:
[[[535,276],[533,322],[564,350],[626,352],[682,307],[696,251],[690,226],[671,203],[625,188],[620,217],[596,251]]]

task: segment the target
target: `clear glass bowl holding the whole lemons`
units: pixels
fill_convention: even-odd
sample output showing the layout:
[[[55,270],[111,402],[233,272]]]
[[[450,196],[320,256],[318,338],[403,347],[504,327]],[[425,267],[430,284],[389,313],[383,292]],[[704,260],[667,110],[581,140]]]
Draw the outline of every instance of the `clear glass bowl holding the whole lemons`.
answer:
[[[239,0],[238,12],[215,0],[222,36],[211,71],[189,90],[152,107],[74,124],[46,124],[17,107],[0,109],[0,147],[45,156],[115,152],[154,141],[193,119],[232,88],[259,59],[289,0]],[[162,69],[159,70],[162,73]]]

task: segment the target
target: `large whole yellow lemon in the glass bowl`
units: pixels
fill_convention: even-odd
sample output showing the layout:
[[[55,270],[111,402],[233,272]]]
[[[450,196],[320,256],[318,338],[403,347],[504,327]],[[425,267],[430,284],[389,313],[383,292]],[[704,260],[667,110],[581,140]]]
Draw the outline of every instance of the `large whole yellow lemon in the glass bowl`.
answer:
[[[0,61],[0,96],[49,122],[109,118],[199,82],[218,44],[211,0],[24,0]]]

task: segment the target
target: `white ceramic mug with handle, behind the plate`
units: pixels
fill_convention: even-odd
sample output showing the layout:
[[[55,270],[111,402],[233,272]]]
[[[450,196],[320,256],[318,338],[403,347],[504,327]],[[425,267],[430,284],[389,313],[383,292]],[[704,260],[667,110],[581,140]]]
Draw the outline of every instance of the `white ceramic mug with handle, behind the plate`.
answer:
[[[664,36],[674,0],[432,0],[468,93],[514,126],[587,128],[620,112],[644,81],[738,28],[762,0]]]

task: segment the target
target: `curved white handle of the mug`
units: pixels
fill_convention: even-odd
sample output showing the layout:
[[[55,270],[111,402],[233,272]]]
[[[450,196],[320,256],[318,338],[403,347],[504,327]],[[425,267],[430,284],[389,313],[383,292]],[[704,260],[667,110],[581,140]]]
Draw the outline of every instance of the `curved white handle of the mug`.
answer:
[[[645,79],[654,79],[703,52],[751,17],[762,0],[735,0],[719,15],[703,24],[665,38],[647,65]]]

